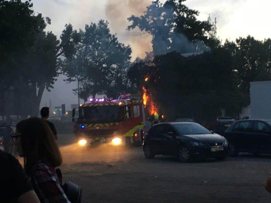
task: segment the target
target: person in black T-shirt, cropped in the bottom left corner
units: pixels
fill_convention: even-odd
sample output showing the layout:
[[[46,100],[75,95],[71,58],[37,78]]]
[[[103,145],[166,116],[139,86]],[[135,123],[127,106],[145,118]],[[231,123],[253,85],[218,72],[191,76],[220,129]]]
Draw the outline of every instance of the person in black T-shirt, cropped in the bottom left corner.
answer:
[[[40,203],[19,161],[1,150],[0,202]]]

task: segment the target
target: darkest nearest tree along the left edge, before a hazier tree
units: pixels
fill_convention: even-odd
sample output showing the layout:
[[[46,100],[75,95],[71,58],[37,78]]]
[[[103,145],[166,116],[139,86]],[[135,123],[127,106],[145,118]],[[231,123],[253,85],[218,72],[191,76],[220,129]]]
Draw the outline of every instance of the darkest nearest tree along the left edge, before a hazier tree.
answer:
[[[33,46],[38,31],[32,3],[0,0],[0,113],[10,115],[11,106],[5,92],[19,80],[21,59]],[[8,108],[9,107],[9,108]]]

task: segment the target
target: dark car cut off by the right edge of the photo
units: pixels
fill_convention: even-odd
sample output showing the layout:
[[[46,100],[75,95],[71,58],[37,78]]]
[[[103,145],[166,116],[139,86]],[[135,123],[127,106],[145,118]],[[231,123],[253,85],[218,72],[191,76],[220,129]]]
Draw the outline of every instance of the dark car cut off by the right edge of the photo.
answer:
[[[250,119],[234,122],[224,136],[229,141],[230,156],[239,152],[255,155],[271,153],[271,121]]]

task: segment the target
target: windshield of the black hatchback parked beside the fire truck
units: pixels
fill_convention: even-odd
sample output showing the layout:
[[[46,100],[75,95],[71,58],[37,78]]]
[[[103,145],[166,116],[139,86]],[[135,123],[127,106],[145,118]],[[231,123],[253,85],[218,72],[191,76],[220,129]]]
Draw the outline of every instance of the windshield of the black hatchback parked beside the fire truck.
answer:
[[[177,131],[182,135],[211,134],[206,128],[196,123],[174,124]]]

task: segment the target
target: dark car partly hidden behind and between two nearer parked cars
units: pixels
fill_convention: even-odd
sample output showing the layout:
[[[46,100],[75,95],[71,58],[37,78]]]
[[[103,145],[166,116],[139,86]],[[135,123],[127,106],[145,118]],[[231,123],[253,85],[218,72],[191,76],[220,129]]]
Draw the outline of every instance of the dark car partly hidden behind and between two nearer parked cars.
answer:
[[[216,117],[215,121],[211,123],[207,128],[214,133],[224,135],[225,130],[234,122],[232,117]]]

